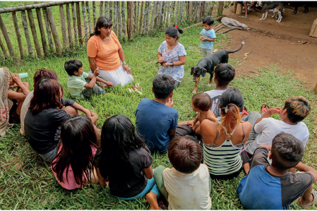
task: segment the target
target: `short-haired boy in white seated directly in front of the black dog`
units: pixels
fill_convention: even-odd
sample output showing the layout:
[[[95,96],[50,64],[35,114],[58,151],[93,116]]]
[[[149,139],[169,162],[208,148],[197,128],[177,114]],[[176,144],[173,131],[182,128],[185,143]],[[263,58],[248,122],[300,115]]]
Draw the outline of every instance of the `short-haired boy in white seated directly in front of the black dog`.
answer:
[[[215,90],[210,90],[205,92],[208,94],[213,101],[213,105],[210,108],[211,111],[213,111],[213,114],[215,114],[217,119],[221,119],[221,112],[220,108],[218,107],[220,97],[225,90],[227,90],[229,87],[230,81],[234,79],[235,70],[234,68],[229,64],[218,64],[215,67],[215,84],[216,88]]]

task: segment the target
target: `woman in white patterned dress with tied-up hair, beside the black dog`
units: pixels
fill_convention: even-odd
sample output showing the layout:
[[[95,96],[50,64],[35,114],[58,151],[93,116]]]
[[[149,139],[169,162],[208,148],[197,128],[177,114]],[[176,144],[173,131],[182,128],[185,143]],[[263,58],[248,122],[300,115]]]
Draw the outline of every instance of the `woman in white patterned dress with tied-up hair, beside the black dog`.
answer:
[[[165,41],[160,44],[157,53],[157,59],[162,64],[159,74],[172,76],[175,80],[175,88],[184,77],[186,51],[184,45],[177,41],[179,34],[183,32],[184,30],[178,28],[177,25],[169,26],[165,30]]]

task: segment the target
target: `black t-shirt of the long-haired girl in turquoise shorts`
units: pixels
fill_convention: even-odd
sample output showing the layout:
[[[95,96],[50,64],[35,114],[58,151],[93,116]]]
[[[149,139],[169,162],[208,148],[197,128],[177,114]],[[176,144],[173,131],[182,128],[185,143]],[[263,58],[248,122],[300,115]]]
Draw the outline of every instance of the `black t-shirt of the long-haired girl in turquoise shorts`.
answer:
[[[94,164],[95,167],[100,169],[101,176],[103,178],[107,178],[111,169],[107,169],[107,166],[102,164],[100,157],[101,152],[101,148],[97,150],[94,157]],[[144,148],[131,150],[128,153],[128,156],[134,169],[134,174],[131,176],[131,179],[128,181],[128,183],[114,180],[111,178],[111,176],[109,176],[110,192],[112,195],[120,198],[131,198],[144,190],[145,186],[148,184],[148,179],[145,177],[142,169],[147,169],[153,162],[153,157]]]

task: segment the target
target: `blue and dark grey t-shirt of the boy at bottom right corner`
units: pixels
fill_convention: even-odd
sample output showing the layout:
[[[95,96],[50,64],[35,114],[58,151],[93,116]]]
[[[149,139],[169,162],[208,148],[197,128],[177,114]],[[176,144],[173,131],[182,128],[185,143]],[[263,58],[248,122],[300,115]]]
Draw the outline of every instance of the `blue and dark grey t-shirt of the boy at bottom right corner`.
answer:
[[[289,210],[289,205],[301,197],[315,180],[311,173],[289,173],[274,176],[268,172],[268,149],[258,147],[251,170],[241,179],[237,193],[248,210]]]

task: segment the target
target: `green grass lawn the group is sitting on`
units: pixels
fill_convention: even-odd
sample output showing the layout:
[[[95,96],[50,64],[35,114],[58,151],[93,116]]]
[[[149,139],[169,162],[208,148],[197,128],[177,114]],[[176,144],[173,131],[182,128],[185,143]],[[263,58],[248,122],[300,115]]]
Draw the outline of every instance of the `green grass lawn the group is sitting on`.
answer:
[[[201,27],[189,28],[181,35],[179,42],[184,44],[187,52],[185,64],[185,76],[179,88],[174,91],[174,108],[179,111],[179,121],[193,119],[195,112],[191,109],[191,91],[194,83],[190,76],[191,66],[196,66],[202,58],[198,39]],[[89,109],[94,109],[99,114],[100,119],[97,126],[109,116],[114,114],[124,114],[133,122],[136,117],[134,111],[138,103],[144,97],[153,98],[151,87],[152,78],[157,76],[158,68],[157,49],[165,39],[164,33],[157,33],[149,37],[138,37],[133,42],[123,43],[126,54],[126,63],[131,67],[134,82],[140,83],[143,87],[143,95],[128,92],[128,86],[117,87],[112,90],[113,95],[93,95],[91,100],[81,100],[79,103]],[[218,35],[215,48],[223,48],[224,44],[232,42],[229,35]],[[235,59],[234,54],[230,54],[229,64],[237,66],[242,61]],[[64,71],[64,62],[67,59],[76,58],[83,62],[83,68],[88,71],[89,64],[85,48],[78,49],[78,52],[70,52],[68,56],[50,56],[46,59],[27,60],[23,64],[13,64],[8,62],[8,68],[15,73],[28,72],[26,79],[32,88],[32,77],[35,71],[45,67],[56,71],[59,74],[59,82],[66,90],[66,97],[69,97],[66,82],[67,75]],[[256,71],[256,70],[255,70]],[[309,127],[311,133],[310,140],[306,145],[304,163],[316,166],[316,140],[314,140],[314,124],[316,119],[316,108],[313,107],[315,95],[308,90],[301,81],[292,77],[289,71],[283,76],[279,74],[278,65],[265,66],[256,71],[256,74],[234,78],[230,85],[238,88],[244,95],[246,107],[249,111],[259,111],[261,104],[282,107],[285,100],[292,95],[302,95],[311,102],[312,114],[304,122]],[[198,92],[204,92],[215,88],[213,83],[208,88],[209,77],[201,78]],[[274,115],[279,118],[278,115]],[[6,138],[0,138],[0,166],[8,164],[13,157],[20,157],[24,162],[22,170],[16,171],[14,167],[0,168],[0,208],[1,210],[147,210],[148,203],[145,198],[139,200],[124,201],[114,198],[109,193],[109,188],[102,189],[99,184],[85,186],[82,189],[67,191],[57,183],[49,164],[32,150],[25,138],[19,133],[19,125],[15,125],[8,131]],[[163,165],[171,167],[167,163],[167,155],[154,155],[155,159],[152,167]],[[212,210],[243,210],[239,198],[237,197],[237,186],[244,176],[241,173],[237,178],[229,181],[213,181],[211,199]],[[316,186],[314,186],[316,188]],[[299,210],[299,206],[293,203],[293,210]],[[313,209],[313,208],[312,208]]]

